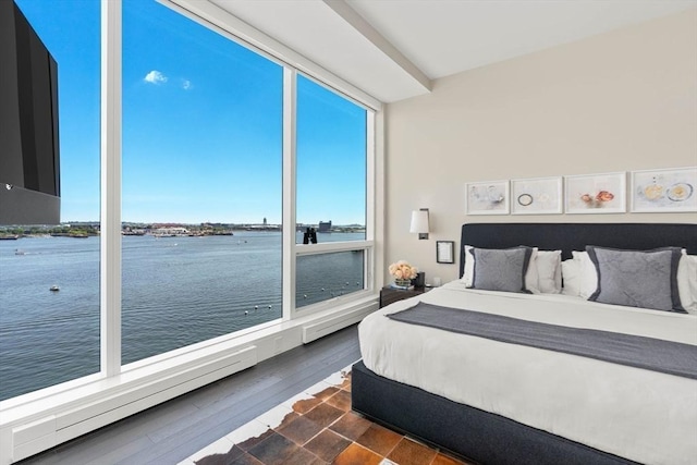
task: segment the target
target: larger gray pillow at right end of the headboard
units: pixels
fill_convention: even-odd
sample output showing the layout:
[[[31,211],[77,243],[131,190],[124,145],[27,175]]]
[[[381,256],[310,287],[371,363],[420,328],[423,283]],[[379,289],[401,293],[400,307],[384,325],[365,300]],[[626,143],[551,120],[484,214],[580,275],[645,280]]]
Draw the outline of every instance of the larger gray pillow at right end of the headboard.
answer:
[[[589,245],[598,287],[589,301],[686,313],[677,292],[678,247],[620,250]]]

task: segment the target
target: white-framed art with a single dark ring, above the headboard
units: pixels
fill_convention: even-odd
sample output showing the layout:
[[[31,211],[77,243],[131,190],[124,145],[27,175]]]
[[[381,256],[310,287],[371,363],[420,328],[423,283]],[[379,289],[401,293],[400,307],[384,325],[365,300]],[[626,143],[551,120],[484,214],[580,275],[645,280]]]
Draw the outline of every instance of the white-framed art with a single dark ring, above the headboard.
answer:
[[[562,213],[562,184],[561,176],[511,180],[511,213]]]

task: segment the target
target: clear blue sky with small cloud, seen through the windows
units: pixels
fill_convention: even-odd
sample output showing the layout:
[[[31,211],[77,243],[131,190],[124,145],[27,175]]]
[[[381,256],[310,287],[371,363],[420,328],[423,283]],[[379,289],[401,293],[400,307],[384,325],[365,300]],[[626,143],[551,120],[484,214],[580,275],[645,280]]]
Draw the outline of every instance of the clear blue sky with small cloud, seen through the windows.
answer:
[[[99,217],[99,2],[17,0],[59,64],[62,221]],[[363,109],[298,78],[297,221],[365,223]],[[281,222],[282,68],[124,0],[122,219]]]

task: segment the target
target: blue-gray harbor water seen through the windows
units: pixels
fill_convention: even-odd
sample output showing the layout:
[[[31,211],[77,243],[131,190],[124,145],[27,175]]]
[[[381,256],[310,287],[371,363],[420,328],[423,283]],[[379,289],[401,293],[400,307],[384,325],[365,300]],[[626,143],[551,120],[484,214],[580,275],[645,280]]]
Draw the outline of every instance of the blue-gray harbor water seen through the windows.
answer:
[[[281,241],[124,236],[123,364],[281,318]],[[298,307],[362,289],[363,253],[298,258]],[[99,316],[99,237],[0,241],[0,400],[98,372]]]

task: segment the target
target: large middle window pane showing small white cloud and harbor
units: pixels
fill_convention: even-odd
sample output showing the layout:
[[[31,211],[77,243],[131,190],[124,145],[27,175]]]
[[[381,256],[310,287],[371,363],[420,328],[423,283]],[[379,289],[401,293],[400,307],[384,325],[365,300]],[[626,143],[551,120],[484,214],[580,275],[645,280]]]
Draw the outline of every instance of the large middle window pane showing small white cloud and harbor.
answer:
[[[154,0],[124,1],[124,364],[281,317],[282,79]]]

